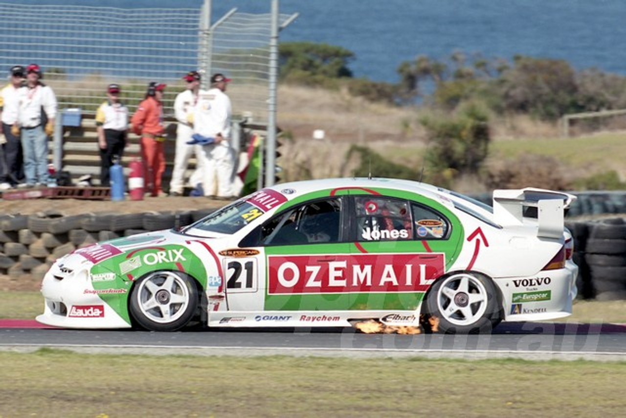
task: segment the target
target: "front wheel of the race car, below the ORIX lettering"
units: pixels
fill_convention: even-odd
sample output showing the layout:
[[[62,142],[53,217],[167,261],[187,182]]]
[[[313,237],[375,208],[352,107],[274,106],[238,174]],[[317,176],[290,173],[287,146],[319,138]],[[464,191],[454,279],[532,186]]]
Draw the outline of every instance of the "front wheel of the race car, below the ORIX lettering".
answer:
[[[146,330],[172,332],[185,327],[198,307],[195,281],[179,271],[153,271],[136,281],[130,314]]]

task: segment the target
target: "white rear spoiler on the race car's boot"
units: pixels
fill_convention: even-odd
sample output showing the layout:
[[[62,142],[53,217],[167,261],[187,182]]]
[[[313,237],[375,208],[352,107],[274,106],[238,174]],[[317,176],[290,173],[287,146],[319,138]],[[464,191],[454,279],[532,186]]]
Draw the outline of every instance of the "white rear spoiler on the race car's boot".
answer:
[[[576,196],[545,189],[505,189],[493,191],[493,217],[501,226],[521,226],[524,218],[537,219],[537,236],[560,238],[565,212]],[[533,209],[534,208],[534,209]],[[536,216],[529,216],[532,212]],[[525,216],[526,215],[526,216]]]

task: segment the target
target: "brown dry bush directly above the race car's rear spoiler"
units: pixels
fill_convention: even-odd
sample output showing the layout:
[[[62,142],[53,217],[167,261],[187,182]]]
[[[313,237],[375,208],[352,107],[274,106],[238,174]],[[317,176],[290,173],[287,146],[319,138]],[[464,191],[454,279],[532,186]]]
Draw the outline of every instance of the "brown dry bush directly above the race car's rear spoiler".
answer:
[[[492,160],[485,169],[485,185],[489,189],[568,190],[571,187],[566,167],[545,155],[526,154],[516,160]]]

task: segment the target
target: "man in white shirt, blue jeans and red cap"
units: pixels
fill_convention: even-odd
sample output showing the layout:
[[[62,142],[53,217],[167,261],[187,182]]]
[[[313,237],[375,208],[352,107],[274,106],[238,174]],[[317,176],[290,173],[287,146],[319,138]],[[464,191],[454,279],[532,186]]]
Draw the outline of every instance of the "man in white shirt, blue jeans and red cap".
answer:
[[[18,123],[21,128],[26,187],[48,185],[48,137],[54,132],[57,105],[54,91],[44,85],[41,78],[41,68],[36,64],[28,65],[26,86],[18,90]]]

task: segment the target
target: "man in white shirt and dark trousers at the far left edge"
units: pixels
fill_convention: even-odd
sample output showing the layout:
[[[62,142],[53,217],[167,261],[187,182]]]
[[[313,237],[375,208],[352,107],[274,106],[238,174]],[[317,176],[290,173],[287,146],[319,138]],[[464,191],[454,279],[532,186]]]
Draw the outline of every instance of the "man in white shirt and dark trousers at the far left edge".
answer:
[[[4,159],[0,159],[0,165],[6,163],[4,169],[0,169],[0,190],[15,187],[24,180],[24,157],[18,127],[18,89],[23,85],[24,78],[26,68],[15,65],[11,67],[11,81],[0,90],[0,136],[4,135],[4,141],[0,141],[4,142]]]

